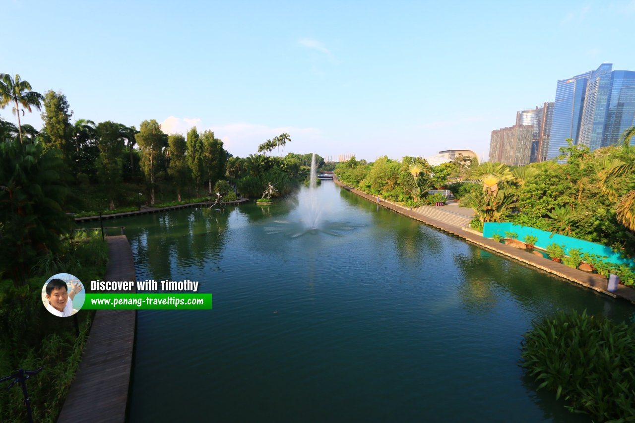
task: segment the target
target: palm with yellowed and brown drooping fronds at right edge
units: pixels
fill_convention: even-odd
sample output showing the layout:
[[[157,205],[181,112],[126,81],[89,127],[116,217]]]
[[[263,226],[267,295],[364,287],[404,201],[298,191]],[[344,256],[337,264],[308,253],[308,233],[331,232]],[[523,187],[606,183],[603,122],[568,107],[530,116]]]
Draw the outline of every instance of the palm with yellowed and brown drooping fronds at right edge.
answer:
[[[635,126],[627,129],[620,137],[622,144],[622,152],[626,158],[625,163],[613,166],[605,173],[602,180],[602,191],[608,195],[610,199],[617,199],[617,191],[613,186],[615,178],[635,173],[635,149],[631,147],[631,139],[635,136]],[[627,192],[615,208],[617,213],[617,221],[631,231],[635,231],[635,190]]]

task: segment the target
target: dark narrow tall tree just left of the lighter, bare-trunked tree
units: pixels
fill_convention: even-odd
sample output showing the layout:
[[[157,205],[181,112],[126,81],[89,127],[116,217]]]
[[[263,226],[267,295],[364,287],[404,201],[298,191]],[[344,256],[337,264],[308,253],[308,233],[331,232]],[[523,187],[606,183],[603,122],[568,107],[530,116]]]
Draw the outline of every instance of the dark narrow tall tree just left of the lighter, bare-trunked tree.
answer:
[[[97,176],[103,185],[104,192],[110,203],[110,210],[114,210],[114,199],[119,193],[121,185],[121,152],[123,138],[119,131],[121,124],[102,122],[97,125],[97,145],[99,158],[97,160]]]

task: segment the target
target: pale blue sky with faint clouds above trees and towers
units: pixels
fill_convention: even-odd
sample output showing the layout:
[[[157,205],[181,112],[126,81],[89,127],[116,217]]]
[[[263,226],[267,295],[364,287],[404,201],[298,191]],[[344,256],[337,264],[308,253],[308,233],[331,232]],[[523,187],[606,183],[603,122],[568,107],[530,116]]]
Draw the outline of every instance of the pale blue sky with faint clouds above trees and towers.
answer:
[[[72,121],[196,126],[240,157],[286,132],[284,154],[483,159],[559,79],[635,70],[635,0],[2,3],[0,73],[61,91]]]

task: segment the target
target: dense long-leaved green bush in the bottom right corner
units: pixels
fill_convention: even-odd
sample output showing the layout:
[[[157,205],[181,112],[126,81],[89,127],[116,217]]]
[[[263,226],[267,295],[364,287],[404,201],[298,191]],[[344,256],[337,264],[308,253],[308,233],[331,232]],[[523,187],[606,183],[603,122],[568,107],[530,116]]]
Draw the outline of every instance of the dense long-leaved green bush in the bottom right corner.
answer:
[[[521,366],[537,389],[563,397],[571,410],[600,421],[635,415],[635,326],[560,311],[534,322],[522,347]]]

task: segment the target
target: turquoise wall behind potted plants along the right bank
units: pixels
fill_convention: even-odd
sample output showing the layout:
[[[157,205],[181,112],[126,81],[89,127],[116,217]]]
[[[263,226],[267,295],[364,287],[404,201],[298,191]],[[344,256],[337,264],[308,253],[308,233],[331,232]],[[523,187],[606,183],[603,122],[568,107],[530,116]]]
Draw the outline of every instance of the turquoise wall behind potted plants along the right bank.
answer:
[[[589,241],[582,241],[582,239],[571,238],[561,234],[551,234],[551,232],[541,231],[535,227],[514,225],[511,222],[493,223],[487,222],[483,225],[483,236],[485,238],[491,238],[494,234],[505,236],[505,231],[516,232],[518,239],[523,241],[526,235],[532,235],[538,238],[536,246],[540,248],[547,248],[547,245],[556,243],[561,246],[565,246],[565,254],[568,255],[569,250],[579,249],[582,253],[606,255],[608,259],[605,261],[616,264],[633,265],[633,260],[628,258],[622,258],[618,253],[613,252],[608,246],[592,243]]]

